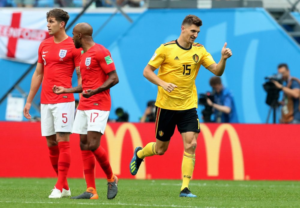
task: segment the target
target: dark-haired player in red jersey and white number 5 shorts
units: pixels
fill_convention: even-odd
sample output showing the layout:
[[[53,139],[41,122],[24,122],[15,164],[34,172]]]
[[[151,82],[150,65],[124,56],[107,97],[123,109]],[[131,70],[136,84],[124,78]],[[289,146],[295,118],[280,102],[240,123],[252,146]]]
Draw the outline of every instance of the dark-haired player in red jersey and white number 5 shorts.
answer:
[[[47,27],[50,37],[38,49],[38,64],[32,76],[30,92],[23,110],[24,116],[31,119],[29,109],[33,98],[42,84],[41,91],[41,131],[46,136],[49,157],[58,175],[57,182],[49,198],[71,195],[67,173],[70,166],[70,132],[74,122],[75,102],[73,94],[54,94],[52,87],[59,84],[72,87],[72,75],[76,68],[78,84],[81,84],[79,62],[81,50],[74,47],[72,38],[67,36],[65,26],[69,14],[62,9],[47,12]]]

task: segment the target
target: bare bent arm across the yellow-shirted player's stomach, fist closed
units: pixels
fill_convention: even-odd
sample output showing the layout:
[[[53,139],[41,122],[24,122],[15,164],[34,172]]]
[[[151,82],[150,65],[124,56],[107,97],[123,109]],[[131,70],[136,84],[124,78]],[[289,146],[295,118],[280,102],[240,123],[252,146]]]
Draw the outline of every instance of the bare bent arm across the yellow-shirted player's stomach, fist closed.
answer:
[[[158,78],[158,76],[154,73],[155,70],[155,67],[147,64],[143,72],[144,77],[146,77],[146,79],[153,84],[161,86],[165,91],[172,92],[177,86],[173,83],[168,83]]]

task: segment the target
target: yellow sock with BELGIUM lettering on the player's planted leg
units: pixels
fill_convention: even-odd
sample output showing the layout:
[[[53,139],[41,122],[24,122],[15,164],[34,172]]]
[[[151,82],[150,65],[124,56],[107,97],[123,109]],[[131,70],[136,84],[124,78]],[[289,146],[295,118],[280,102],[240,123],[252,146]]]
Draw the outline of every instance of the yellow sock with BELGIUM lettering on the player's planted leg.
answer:
[[[187,187],[188,184],[190,183],[190,178],[192,177],[193,171],[195,167],[195,155],[188,154],[187,152],[184,152],[183,154],[183,159],[182,159],[182,186],[181,186],[181,191]]]

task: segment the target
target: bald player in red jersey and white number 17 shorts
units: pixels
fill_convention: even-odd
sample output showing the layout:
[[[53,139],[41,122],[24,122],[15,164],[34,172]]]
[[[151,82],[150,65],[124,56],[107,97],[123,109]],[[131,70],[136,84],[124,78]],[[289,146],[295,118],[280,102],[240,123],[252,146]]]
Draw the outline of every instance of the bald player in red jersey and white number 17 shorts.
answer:
[[[82,85],[74,88],[53,87],[56,94],[80,93],[73,132],[80,134],[83,169],[87,185],[86,192],[71,197],[74,199],[98,199],[95,186],[95,157],[107,177],[107,198],[113,199],[118,192],[118,178],[113,174],[106,151],[100,146],[108,115],[110,113],[110,88],[119,82],[110,52],[92,39],[93,28],[79,23],[73,28],[76,48],[84,53],[80,59]]]

